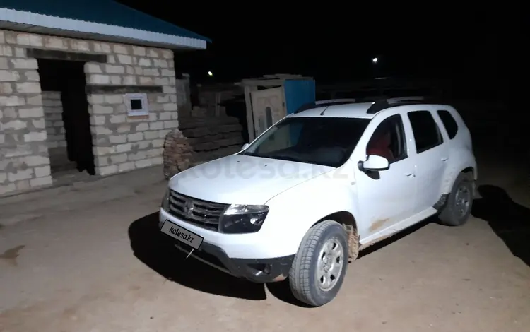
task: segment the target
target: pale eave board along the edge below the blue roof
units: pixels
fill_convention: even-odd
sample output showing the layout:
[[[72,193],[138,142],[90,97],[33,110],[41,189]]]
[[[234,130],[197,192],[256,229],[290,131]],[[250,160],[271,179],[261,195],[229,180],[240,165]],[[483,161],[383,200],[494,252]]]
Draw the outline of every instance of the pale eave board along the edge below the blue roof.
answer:
[[[0,29],[164,49],[206,49],[206,40],[0,8]]]

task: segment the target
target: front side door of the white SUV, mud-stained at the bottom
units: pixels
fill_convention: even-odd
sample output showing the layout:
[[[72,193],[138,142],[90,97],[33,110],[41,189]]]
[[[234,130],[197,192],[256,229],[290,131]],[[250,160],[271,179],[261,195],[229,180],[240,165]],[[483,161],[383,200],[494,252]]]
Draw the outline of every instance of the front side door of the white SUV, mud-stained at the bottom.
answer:
[[[390,166],[379,172],[363,172],[355,168],[361,220],[358,227],[362,238],[410,217],[416,196],[415,165],[408,156],[407,146],[412,134],[408,129],[407,136],[403,116],[394,112],[379,124],[370,124],[367,134],[370,128],[370,138],[361,139],[355,149],[356,158],[366,160],[368,154],[380,155],[389,159]]]

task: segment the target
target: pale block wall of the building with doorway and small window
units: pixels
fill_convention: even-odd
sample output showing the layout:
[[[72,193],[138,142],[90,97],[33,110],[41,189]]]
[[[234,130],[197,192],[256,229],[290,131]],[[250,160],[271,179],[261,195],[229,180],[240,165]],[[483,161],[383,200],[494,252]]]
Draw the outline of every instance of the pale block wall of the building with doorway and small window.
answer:
[[[163,142],[177,129],[177,91],[169,50],[0,30],[0,195],[52,184],[40,76],[28,49],[100,54],[87,62],[90,85],[160,86],[148,93],[147,117],[128,117],[123,92],[90,93],[96,174],[163,162]]]

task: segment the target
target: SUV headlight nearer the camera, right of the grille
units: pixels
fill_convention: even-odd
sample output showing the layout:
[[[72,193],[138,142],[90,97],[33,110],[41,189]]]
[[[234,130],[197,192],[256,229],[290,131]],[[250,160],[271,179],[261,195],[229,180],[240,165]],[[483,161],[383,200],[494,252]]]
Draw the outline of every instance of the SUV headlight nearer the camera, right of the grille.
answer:
[[[269,206],[232,204],[220,218],[223,233],[254,233],[259,231],[269,213]]]

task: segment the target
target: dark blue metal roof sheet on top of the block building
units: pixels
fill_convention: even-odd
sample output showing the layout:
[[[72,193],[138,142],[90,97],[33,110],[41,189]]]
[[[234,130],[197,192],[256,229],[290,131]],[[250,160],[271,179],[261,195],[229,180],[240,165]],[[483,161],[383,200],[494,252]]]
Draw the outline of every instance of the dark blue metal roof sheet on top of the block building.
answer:
[[[211,42],[207,37],[180,28],[113,0],[1,0],[0,8],[93,23],[117,25],[149,32]]]

